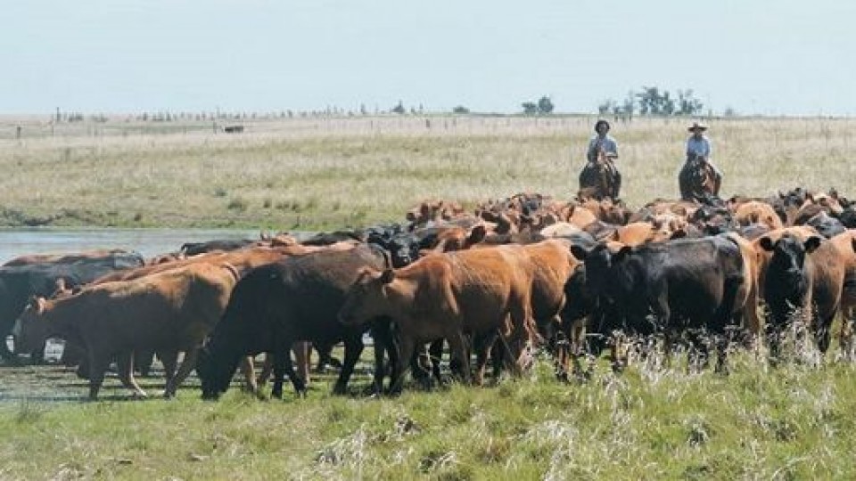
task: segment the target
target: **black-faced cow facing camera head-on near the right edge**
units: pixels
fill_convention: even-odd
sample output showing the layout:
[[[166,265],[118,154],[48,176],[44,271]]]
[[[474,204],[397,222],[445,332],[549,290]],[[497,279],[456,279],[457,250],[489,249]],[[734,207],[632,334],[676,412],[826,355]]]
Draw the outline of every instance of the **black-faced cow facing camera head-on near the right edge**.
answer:
[[[816,235],[801,240],[785,234],[775,242],[761,237],[759,245],[773,253],[764,279],[764,301],[770,306],[767,334],[771,358],[778,358],[781,335],[796,310],[801,311],[805,327],[814,333],[820,352],[826,353],[829,327],[844,288],[844,254]]]

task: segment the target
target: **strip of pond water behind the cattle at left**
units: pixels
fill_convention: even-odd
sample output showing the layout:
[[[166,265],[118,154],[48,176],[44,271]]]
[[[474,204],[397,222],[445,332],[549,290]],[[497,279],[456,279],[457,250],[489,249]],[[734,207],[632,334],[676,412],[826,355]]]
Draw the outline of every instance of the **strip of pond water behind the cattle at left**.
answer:
[[[29,254],[63,254],[92,249],[136,250],[144,257],[177,251],[185,242],[259,239],[259,231],[230,229],[0,229],[0,264]]]

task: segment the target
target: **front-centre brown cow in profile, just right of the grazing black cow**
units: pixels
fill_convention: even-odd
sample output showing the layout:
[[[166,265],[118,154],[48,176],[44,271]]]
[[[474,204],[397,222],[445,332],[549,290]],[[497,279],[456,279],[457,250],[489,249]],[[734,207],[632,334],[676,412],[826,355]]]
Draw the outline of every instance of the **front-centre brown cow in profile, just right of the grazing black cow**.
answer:
[[[519,365],[532,333],[533,273],[531,263],[524,265],[518,254],[508,249],[462,250],[431,254],[395,270],[366,268],[351,286],[340,320],[356,325],[390,317],[399,328],[402,360],[412,357],[415,346],[445,338],[464,379],[469,377],[465,334],[487,343],[499,332]],[[480,363],[477,383],[483,375]],[[408,367],[399,364],[404,365],[393,373],[393,392],[400,391]]]

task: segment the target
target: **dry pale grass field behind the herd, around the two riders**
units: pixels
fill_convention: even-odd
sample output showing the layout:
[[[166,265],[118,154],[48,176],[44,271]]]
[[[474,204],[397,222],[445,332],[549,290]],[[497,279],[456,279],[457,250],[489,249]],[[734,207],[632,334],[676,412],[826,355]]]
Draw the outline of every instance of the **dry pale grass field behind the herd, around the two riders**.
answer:
[[[678,194],[686,118],[615,123],[622,197]],[[243,122],[51,126],[0,118],[4,224],[319,229],[401,221],[426,198],[465,204],[542,192],[577,175],[594,118],[281,118]],[[852,192],[856,119],[712,119],[723,192],[796,185]],[[22,138],[14,138],[14,126]]]

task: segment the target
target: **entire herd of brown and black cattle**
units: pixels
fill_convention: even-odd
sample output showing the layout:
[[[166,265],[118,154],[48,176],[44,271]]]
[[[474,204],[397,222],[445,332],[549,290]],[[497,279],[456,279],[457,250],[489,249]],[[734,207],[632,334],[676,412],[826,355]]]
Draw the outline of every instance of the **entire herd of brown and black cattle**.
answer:
[[[606,347],[621,369],[618,339],[652,336],[686,344],[702,362],[715,346],[726,371],[732,344],[766,345],[777,360],[794,321],[826,352],[841,313],[841,346],[852,355],[856,203],[835,191],[633,210],[519,194],[474,212],[426,201],[406,218],[302,242],[279,234],[185,244],[152,259],[119,250],[17,257],[0,267],[0,336],[11,333],[15,347],[0,343],[0,355],[38,359],[48,338],[62,338],[63,361],[79,365],[93,399],[113,362],[144,396],[135,364],[145,369],[153,354],[167,396],[193,369],[206,398],[225,392],[239,366],[258,389],[260,353],[272,395],[283,395],[286,375],[302,395],[310,346],[333,363],[340,343],[334,389],[343,392],[366,332],[373,388],[383,392],[389,373],[392,393],[408,370],[439,377],[444,343],[451,371],[476,384],[489,360],[495,376],[520,374],[533,346],[555,356],[563,379],[572,360]]]

